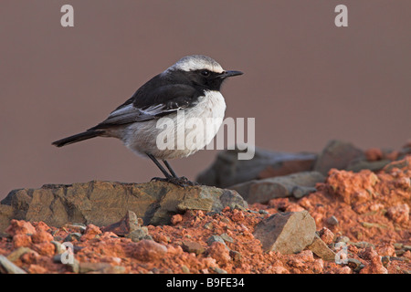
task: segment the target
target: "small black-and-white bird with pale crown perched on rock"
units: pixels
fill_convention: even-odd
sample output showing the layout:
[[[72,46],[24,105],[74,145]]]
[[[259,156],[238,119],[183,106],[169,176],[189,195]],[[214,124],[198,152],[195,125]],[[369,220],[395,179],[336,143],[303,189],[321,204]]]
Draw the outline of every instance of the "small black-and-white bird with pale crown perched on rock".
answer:
[[[177,176],[168,160],[192,155],[213,140],[227,108],[220,92],[223,82],[227,78],[242,74],[243,72],[237,70],[225,70],[215,59],[204,55],[182,57],[144,83],[130,99],[111,111],[106,120],[89,130],[52,144],[63,147],[96,137],[116,138],[135,154],[152,160],[163,172],[164,178],[155,177],[152,180],[180,186],[193,185],[186,177]],[[203,139],[195,141],[195,145],[187,145],[181,141],[188,135],[200,134],[200,128],[184,127],[184,121],[189,118],[211,126],[206,128]],[[174,146],[184,145],[183,147],[164,149],[158,146],[157,137],[163,132],[163,129],[158,127],[158,122],[162,119],[171,120],[175,125],[174,128],[167,129],[167,134],[171,135],[167,136],[170,137],[169,142]],[[184,135],[179,135],[179,131]],[[163,161],[168,172],[159,161]]]

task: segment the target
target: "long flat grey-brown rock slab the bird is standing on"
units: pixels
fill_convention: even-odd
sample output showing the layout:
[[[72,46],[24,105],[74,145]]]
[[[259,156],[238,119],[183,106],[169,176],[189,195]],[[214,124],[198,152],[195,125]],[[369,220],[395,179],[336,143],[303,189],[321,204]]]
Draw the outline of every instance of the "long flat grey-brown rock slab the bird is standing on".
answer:
[[[56,227],[68,222],[107,226],[119,222],[128,211],[142,218],[144,224],[170,224],[174,214],[188,209],[220,212],[226,206],[248,206],[235,191],[205,185],[182,188],[155,181],[47,184],[40,189],[12,191],[1,203],[2,220],[43,221]],[[34,233],[34,230],[25,232]]]

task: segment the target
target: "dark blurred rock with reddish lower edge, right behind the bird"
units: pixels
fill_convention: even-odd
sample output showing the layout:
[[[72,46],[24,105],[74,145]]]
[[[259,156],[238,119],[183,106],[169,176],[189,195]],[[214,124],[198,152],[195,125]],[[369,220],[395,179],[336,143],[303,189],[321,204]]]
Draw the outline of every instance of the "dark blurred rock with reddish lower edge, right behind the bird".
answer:
[[[219,152],[213,165],[201,172],[196,181],[206,185],[227,188],[230,185],[266,178],[269,175],[286,175],[292,172],[311,171],[312,164],[317,157],[316,154],[308,152],[290,153],[256,149],[251,160],[238,160],[238,152],[238,150]],[[294,166],[290,167],[292,163]],[[286,164],[286,167],[284,167],[284,164]],[[295,166],[297,164],[303,164],[304,166]]]

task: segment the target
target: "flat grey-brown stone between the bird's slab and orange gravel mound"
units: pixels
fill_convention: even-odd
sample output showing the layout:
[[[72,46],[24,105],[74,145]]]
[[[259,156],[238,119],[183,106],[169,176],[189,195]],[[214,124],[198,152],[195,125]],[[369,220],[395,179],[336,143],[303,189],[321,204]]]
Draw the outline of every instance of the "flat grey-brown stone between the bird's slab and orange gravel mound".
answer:
[[[229,188],[237,191],[248,203],[267,203],[271,199],[291,195],[301,198],[305,194],[315,192],[315,184],[324,181],[325,177],[320,172],[298,172],[239,183]]]

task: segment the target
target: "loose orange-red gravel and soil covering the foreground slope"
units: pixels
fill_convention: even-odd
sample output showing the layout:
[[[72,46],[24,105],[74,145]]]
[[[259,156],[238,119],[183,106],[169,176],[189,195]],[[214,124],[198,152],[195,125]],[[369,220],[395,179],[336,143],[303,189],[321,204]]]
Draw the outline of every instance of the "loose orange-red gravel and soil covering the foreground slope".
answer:
[[[380,159],[377,150],[367,152]],[[13,220],[0,240],[0,255],[27,273],[393,273],[411,271],[409,205],[411,156],[381,172],[331,170],[318,191],[300,200],[279,198],[255,203],[248,210],[226,208],[220,214],[190,211],[176,214],[173,225],[147,226],[153,240],[101,232],[95,225]],[[270,214],[307,210],[317,231],[334,251],[347,242],[348,264],[324,261],[311,250],[296,255],[263,252],[254,227]],[[58,243],[71,235],[79,265],[64,265]],[[212,242],[212,235],[224,241]],[[77,236],[77,237],[76,237]],[[225,243],[224,243],[225,242]],[[20,249],[19,249],[20,247]],[[23,255],[16,255],[27,247]],[[54,260],[53,260],[54,258]]]

